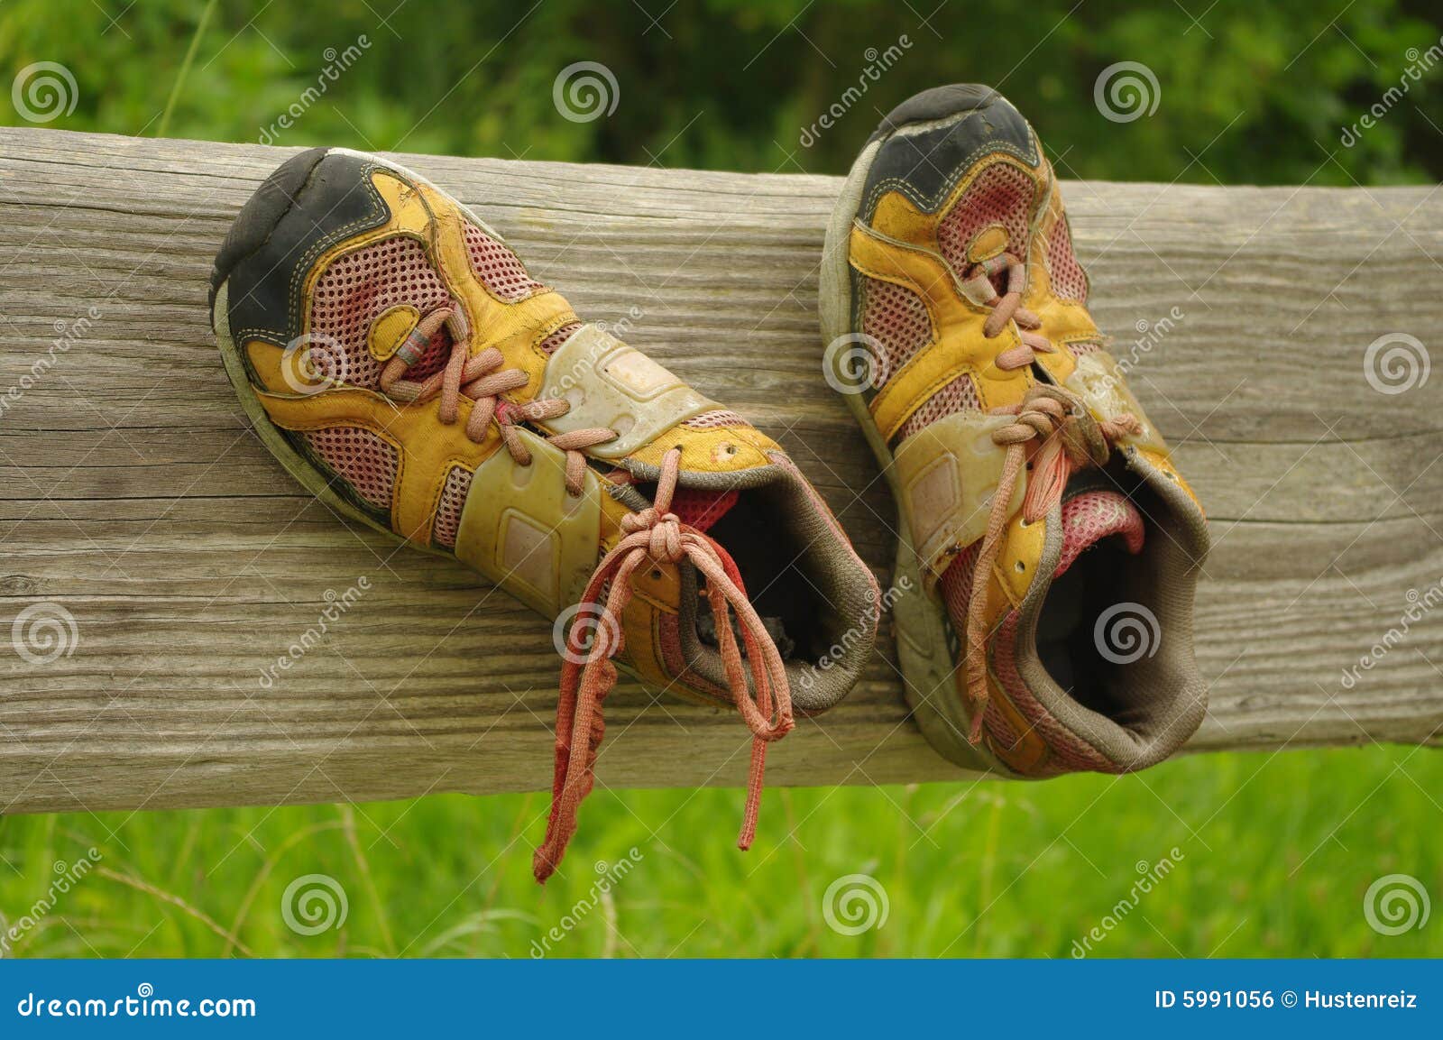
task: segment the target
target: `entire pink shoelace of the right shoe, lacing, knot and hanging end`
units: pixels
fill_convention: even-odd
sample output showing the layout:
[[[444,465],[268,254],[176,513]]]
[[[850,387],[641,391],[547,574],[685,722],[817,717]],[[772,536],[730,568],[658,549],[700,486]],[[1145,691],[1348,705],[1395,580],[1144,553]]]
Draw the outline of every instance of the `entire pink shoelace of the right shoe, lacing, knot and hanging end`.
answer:
[[[1007,291],[997,294],[993,276],[1006,273]],[[1010,252],[974,264],[968,271],[967,284],[980,290],[983,299],[993,307],[983,323],[983,335],[993,339],[1001,333],[1007,322],[1017,323],[1020,343],[997,355],[997,368],[1009,371],[1025,368],[1036,361],[1038,353],[1053,353],[1056,348],[1035,329],[1040,319],[1022,306],[1022,293],[1027,283],[1027,268]],[[1111,444],[1123,434],[1136,434],[1141,428],[1136,415],[1121,414],[1115,418],[1097,421],[1068,389],[1038,384],[1022,398],[1020,404],[993,408],[991,414],[1014,415],[1014,421],[993,431],[993,443],[1006,449],[1001,477],[993,492],[991,512],[987,515],[987,529],[983,534],[977,564],[973,570],[973,591],[967,603],[967,698],[973,702],[973,728],[968,740],[981,740],[983,715],[987,708],[987,583],[1001,552],[1003,535],[1007,529],[1009,506],[1017,486],[1017,476],[1027,462],[1029,446],[1035,447],[1032,473],[1027,477],[1027,493],[1022,501],[1023,524],[1035,524],[1062,501],[1068,480],[1079,469],[1102,466],[1111,454]],[[1040,441],[1036,446],[1035,441]]]

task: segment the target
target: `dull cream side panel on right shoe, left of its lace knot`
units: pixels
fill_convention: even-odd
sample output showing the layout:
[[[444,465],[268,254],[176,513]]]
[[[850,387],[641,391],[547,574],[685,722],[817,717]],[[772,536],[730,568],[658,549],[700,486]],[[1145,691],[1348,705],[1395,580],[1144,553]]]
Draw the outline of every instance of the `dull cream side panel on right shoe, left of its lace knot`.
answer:
[[[902,512],[928,581],[987,531],[991,496],[1006,453],[991,434],[1013,418],[958,411],[902,441],[893,459]],[[1017,476],[1009,514],[1022,508],[1026,470]],[[1040,525],[1036,525],[1040,526]]]

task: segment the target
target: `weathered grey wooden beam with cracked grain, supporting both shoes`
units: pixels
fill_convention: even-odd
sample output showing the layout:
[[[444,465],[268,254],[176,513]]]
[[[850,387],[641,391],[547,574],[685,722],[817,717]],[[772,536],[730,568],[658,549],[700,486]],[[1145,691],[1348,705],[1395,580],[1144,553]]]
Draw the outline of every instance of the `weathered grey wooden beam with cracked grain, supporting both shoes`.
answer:
[[[51,601],[78,633],[51,664],[0,655],[0,812],[548,780],[550,625],[455,564],[339,522],[231,397],[206,274],[286,154],[0,130],[0,625]],[[892,503],[820,378],[817,264],[840,180],[403,162],[476,206],[583,314],[778,436],[886,573]],[[1118,355],[1136,353],[1134,389],[1218,539],[1198,617],[1212,711],[1192,747],[1434,743],[1443,623],[1424,613],[1388,632],[1410,590],[1443,580],[1443,378],[1384,394],[1365,352],[1385,333],[1436,346],[1443,196],[1065,193],[1095,314]],[[362,577],[359,601],[263,687],[328,591]],[[1345,682],[1375,645],[1377,666]],[[606,785],[745,773],[729,713],[626,687],[609,717]],[[906,718],[890,639],[769,772],[794,785],[951,775]]]

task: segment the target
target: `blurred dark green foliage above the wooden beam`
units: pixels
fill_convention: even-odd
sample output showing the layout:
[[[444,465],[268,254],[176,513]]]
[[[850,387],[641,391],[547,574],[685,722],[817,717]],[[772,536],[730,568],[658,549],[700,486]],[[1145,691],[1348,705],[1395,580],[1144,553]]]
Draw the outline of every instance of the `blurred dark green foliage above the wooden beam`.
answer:
[[[343,52],[365,36],[359,61],[276,143],[840,173],[892,105],[974,81],[1000,87],[1069,176],[1313,185],[1443,176],[1443,66],[1410,81],[1356,144],[1339,143],[1439,43],[1443,12],[1423,0],[408,0],[388,14],[395,4],[218,3],[166,133],[258,140],[316,85],[328,48]],[[7,0],[0,69],[7,79],[38,61],[71,69],[75,111],[49,125],[154,134],[205,7]],[[889,46],[900,58],[802,147],[802,128],[864,78],[869,49]],[[557,74],[579,61],[615,75],[609,117],[571,123],[553,104]],[[1157,108],[1111,123],[1094,84],[1123,61],[1153,71]],[[0,104],[0,120],[19,117]]]

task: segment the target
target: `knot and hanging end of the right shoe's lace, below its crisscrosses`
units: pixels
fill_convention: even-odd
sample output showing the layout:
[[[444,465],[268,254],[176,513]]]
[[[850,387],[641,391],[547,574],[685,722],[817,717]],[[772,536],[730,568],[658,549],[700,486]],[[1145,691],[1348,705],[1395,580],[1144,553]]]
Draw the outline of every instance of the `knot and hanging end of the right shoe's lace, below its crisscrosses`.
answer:
[[[987,708],[987,583],[1001,552],[1012,495],[1017,476],[1033,447],[1027,492],[1022,499],[1023,524],[1035,524],[1062,501],[1068,480],[1079,469],[1102,466],[1111,446],[1123,434],[1141,430],[1137,417],[1124,413],[1097,421],[1071,391],[1035,385],[1020,404],[993,408],[993,414],[1016,415],[1014,421],[993,431],[993,443],[1006,449],[1001,479],[993,492],[987,531],[973,570],[973,591],[967,603],[967,697],[973,702],[970,740],[981,740],[983,714]],[[1040,446],[1035,444],[1040,441]]]

